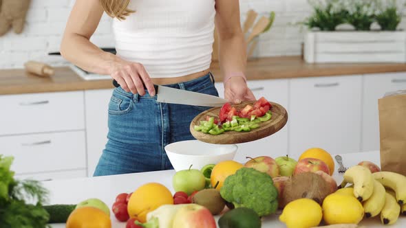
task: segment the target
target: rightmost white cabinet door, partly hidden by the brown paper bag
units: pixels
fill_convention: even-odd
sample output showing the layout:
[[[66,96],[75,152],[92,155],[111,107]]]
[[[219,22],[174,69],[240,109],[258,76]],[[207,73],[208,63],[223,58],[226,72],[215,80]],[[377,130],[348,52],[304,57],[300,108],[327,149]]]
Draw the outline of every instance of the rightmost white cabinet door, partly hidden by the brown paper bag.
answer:
[[[363,76],[363,135],[361,150],[379,150],[378,99],[389,91],[406,89],[406,73],[380,73]]]

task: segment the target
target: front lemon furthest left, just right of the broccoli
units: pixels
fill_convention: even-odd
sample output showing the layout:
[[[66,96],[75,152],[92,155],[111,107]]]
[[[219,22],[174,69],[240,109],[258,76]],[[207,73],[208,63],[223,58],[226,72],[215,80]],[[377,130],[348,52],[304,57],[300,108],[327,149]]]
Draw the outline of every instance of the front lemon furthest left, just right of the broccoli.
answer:
[[[323,218],[319,203],[310,198],[299,198],[286,205],[279,220],[288,228],[317,227]]]

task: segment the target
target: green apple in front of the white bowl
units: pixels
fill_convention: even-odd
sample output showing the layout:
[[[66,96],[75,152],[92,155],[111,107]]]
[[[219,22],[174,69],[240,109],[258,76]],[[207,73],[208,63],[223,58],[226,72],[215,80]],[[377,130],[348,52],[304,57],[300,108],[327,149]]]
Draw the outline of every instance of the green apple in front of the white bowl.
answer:
[[[194,191],[204,189],[206,179],[200,170],[192,169],[180,170],[173,175],[172,185],[175,192],[186,192],[188,196]]]

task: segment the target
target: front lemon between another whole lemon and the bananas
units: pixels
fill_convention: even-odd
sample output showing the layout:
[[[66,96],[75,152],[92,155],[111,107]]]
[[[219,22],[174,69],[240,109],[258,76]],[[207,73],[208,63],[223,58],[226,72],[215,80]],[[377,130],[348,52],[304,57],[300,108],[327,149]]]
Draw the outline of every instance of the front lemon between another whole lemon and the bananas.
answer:
[[[364,216],[363,205],[348,194],[330,194],[323,201],[323,219],[328,225],[358,224]]]

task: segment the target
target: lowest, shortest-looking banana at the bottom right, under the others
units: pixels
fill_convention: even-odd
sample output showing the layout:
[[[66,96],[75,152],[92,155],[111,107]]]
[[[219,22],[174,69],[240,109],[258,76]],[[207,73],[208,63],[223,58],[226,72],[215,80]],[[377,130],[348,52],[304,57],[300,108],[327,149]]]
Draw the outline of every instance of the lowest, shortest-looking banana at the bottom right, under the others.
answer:
[[[385,206],[381,211],[381,222],[384,225],[392,225],[396,223],[400,214],[400,205],[396,202],[396,198],[393,194],[387,191],[385,197]]]

